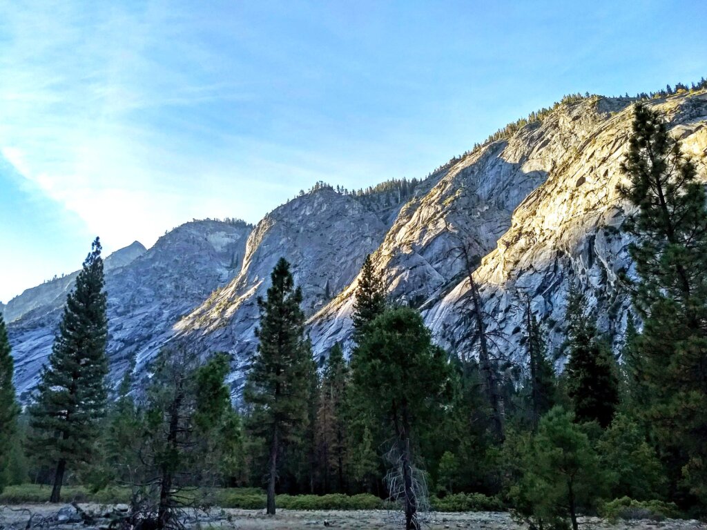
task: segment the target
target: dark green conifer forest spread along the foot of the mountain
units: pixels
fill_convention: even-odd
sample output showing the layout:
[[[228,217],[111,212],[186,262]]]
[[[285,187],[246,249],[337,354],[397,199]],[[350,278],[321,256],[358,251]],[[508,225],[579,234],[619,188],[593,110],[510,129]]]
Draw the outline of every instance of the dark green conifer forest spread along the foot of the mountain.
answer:
[[[208,504],[268,514],[397,506],[406,529],[430,510],[508,510],[532,529],[577,530],[583,514],[707,517],[706,191],[662,117],[633,108],[619,191],[633,206],[621,230],[636,274],[621,278],[633,317],[619,351],[576,285],[562,370],[530,303],[525,351],[495,358],[469,263],[476,349],[450,355],[418,311],[386,300],[369,256],[351,351],[337,344],[315,359],[283,258],[258,300],[242,399],[226,353],[182,343],[163,349],[148,380],[128,370],[112,389],[96,238],[24,407],[0,317],[0,502],[80,490],[124,499],[133,522],[160,530]]]

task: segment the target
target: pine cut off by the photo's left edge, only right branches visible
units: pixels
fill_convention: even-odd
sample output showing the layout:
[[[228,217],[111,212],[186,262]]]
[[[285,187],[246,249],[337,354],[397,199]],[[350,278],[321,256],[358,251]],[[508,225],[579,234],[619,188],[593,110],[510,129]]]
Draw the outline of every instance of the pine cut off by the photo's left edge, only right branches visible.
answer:
[[[12,382],[14,363],[10,351],[5,321],[0,314],[0,492],[5,485],[9,457],[17,435],[17,416],[20,413]]]

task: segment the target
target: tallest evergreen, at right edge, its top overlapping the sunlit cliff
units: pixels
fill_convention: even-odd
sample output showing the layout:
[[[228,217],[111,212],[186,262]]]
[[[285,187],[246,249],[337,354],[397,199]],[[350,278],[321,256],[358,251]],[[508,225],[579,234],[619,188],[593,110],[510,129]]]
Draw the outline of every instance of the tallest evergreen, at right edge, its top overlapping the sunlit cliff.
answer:
[[[660,115],[636,105],[619,192],[636,212],[624,230],[639,281],[633,305],[643,320],[634,347],[640,399],[673,484],[684,481],[707,505],[707,208],[694,164]]]

